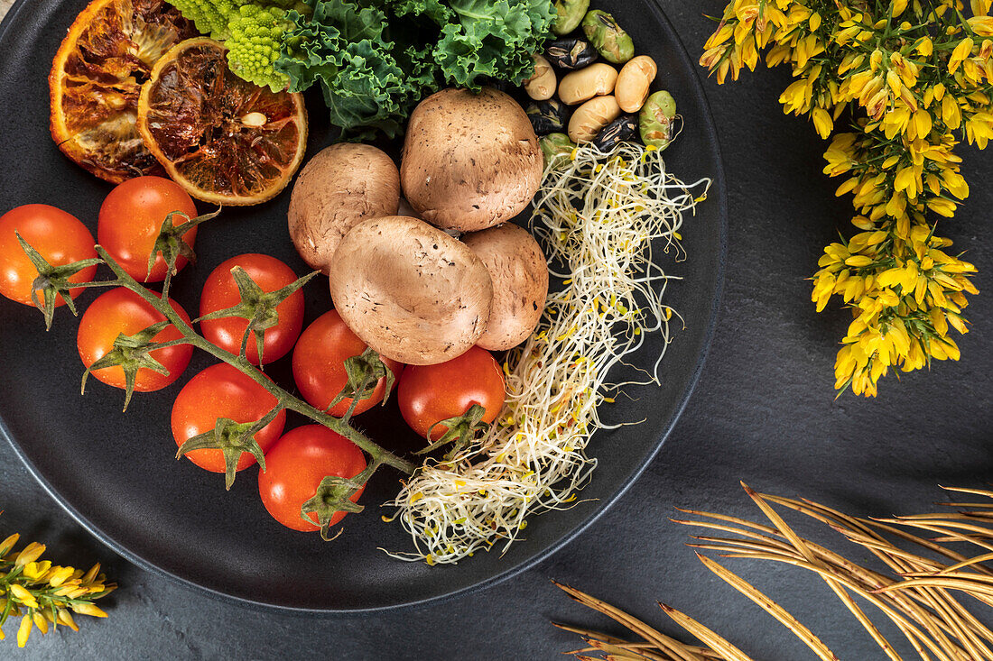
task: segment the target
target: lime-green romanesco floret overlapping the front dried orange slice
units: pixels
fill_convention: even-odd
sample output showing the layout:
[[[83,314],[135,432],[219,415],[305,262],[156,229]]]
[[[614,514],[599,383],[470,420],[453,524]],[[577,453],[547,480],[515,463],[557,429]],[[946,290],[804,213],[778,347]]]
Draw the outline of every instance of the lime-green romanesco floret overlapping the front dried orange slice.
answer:
[[[227,23],[227,65],[240,78],[272,91],[286,89],[290,78],[273,66],[279,58],[283,35],[292,23],[277,7],[242,5]]]

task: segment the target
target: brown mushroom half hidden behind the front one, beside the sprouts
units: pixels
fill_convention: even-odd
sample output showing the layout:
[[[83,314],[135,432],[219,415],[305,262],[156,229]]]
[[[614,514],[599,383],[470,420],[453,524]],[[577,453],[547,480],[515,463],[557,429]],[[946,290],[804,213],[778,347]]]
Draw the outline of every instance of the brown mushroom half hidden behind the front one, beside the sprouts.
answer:
[[[476,343],[492,351],[527,339],[541,320],[548,298],[548,263],[526,229],[512,223],[464,234],[463,242],[490,271],[494,304],[487,331]]]

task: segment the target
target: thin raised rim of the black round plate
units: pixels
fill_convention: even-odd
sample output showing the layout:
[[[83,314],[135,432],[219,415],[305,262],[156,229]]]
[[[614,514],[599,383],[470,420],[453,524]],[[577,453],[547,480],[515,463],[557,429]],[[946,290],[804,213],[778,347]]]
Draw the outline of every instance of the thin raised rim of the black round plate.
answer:
[[[31,0],[17,0],[11,9],[7,12],[3,21],[0,22],[0,42],[3,42],[7,33],[11,31],[12,26],[20,17],[20,14],[25,10],[26,7],[30,6]],[[13,449],[14,454],[17,455],[18,459],[25,465],[28,472],[31,473],[32,477],[41,484],[42,488],[55,500],[59,505],[71,516],[71,518],[79,524],[79,526],[85,530],[87,533],[92,535],[101,544],[109,548],[111,551],[116,553],[121,558],[124,558],[133,565],[141,568],[142,570],[149,572],[151,574],[164,577],[171,581],[191,589],[195,593],[202,595],[209,595],[220,601],[227,603],[240,605],[244,607],[251,608],[253,610],[261,610],[266,612],[282,612],[288,614],[301,614],[310,615],[318,617],[348,617],[351,615],[358,614],[368,614],[368,613],[380,613],[393,610],[402,610],[405,608],[416,608],[423,607],[426,605],[436,605],[441,604],[455,598],[471,595],[474,593],[479,593],[490,588],[497,586],[504,581],[514,578],[515,576],[532,569],[539,563],[547,560],[554,554],[562,550],[566,545],[573,542],[577,537],[583,534],[586,530],[590,528],[596,521],[603,516],[609,509],[611,509],[632,487],[632,485],[641,476],[641,473],[654,462],[658,453],[661,451],[663,445],[668,440],[675,428],[679,419],[682,417],[686,406],[689,403],[690,398],[696,389],[697,384],[700,380],[700,375],[703,372],[704,364],[707,361],[707,357],[710,354],[711,344],[714,339],[714,333],[717,328],[717,320],[720,315],[720,309],[724,298],[724,284],[726,275],[726,264],[727,264],[727,252],[728,252],[728,191],[727,191],[727,181],[725,175],[724,167],[724,157],[723,150],[721,149],[720,136],[717,131],[717,125],[714,120],[713,109],[711,107],[710,99],[704,91],[703,81],[700,78],[700,71],[694,63],[694,61],[689,57],[689,52],[686,50],[686,45],[683,43],[682,39],[679,37],[679,33],[676,31],[675,26],[669,21],[668,16],[666,16],[664,10],[661,7],[660,0],[644,0],[644,4],[649,9],[649,11],[654,15],[656,20],[664,24],[668,31],[675,38],[675,49],[682,61],[683,66],[687,66],[692,72],[693,78],[696,80],[697,84],[694,86],[693,93],[697,96],[697,100],[703,109],[703,119],[704,126],[706,128],[707,136],[711,140],[713,145],[714,153],[717,160],[717,168],[711,179],[713,180],[713,186],[716,189],[718,195],[712,196],[712,198],[718,198],[716,201],[719,204],[719,244],[720,249],[717,255],[717,277],[716,286],[714,291],[714,296],[711,301],[710,306],[710,316],[706,324],[706,330],[703,336],[703,345],[700,351],[700,355],[697,357],[695,366],[693,367],[693,372],[690,376],[689,382],[687,383],[681,397],[678,400],[675,412],[669,420],[668,424],[662,430],[657,441],[655,442],[652,450],[644,458],[644,461],[638,465],[638,468],[632,472],[623,483],[614,491],[610,497],[603,498],[600,500],[600,506],[593,510],[586,518],[581,520],[576,524],[571,530],[563,535],[554,544],[551,544],[547,548],[543,549],[539,553],[522,560],[518,564],[508,567],[504,571],[501,571],[494,576],[475,583],[471,586],[466,586],[459,588],[457,590],[451,591],[444,595],[434,595],[422,598],[407,599],[401,602],[390,603],[385,605],[375,605],[368,607],[359,608],[314,608],[314,607],[303,607],[303,606],[292,606],[278,603],[270,603],[266,601],[254,600],[248,597],[229,595],[213,588],[203,586],[195,581],[187,579],[182,576],[178,576],[166,569],[155,565],[154,563],[144,559],[143,557],[133,553],[126,547],[121,545],[119,542],[114,540],[112,537],[104,533],[98,526],[90,522],[81,512],[79,512],[75,507],[73,507],[52,485],[51,482],[38,470],[38,468],[32,463],[24,451],[21,449],[20,445],[14,439],[14,435],[11,433],[4,421],[3,417],[0,416],[0,438],[4,439],[7,444]]]

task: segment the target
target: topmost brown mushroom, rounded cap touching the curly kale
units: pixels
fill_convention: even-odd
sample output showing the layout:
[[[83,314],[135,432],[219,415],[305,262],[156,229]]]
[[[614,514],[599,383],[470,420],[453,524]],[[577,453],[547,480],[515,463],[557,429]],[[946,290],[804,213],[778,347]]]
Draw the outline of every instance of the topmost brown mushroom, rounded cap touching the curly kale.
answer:
[[[511,219],[538,192],[543,170],[530,120],[501,91],[443,89],[410,115],[400,181],[434,225],[478,231]]]

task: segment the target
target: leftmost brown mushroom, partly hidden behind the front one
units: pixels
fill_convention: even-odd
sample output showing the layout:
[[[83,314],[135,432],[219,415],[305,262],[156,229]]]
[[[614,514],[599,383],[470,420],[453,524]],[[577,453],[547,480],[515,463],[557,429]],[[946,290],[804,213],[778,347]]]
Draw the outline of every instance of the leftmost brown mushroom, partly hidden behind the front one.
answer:
[[[385,152],[332,145],[310,160],[293,187],[287,213],[293,245],[312,268],[330,274],[349,230],[362,220],[396,214],[399,200],[400,173]]]

